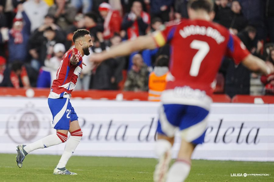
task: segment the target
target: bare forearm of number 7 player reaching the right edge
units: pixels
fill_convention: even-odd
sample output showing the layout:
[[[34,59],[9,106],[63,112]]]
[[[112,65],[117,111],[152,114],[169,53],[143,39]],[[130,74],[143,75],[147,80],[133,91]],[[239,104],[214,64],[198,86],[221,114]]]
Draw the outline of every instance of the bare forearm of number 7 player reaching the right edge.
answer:
[[[242,61],[244,66],[254,72],[261,72],[264,75],[269,75],[274,72],[274,66],[272,64],[266,64],[262,59],[249,54]]]

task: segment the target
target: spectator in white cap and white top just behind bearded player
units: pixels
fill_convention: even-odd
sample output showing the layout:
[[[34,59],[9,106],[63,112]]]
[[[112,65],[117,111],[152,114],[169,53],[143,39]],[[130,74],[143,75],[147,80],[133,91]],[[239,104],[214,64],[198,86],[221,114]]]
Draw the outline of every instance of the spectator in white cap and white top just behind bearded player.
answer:
[[[60,66],[61,60],[64,56],[66,49],[65,45],[57,43],[53,46],[54,56],[46,59],[45,66],[42,66],[37,79],[37,88],[49,88],[53,80],[56,78],[56,72]]]

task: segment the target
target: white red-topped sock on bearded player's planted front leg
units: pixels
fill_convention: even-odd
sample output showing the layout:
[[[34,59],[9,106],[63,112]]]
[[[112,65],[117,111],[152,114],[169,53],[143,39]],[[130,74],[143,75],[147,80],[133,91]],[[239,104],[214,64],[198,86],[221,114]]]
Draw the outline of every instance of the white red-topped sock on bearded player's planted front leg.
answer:
[[[66,164],[68,162],[68,159],[72,156],[74,153],[74,150],[80,143],[80,140],[83,136],[82,130],[76,130],[70,133],[70,137],[68,138],[68,141],[65,146],[65,150],[61,156],[61,159],[59,160],[59,163],[57,164],[58,168],[66,167]]]

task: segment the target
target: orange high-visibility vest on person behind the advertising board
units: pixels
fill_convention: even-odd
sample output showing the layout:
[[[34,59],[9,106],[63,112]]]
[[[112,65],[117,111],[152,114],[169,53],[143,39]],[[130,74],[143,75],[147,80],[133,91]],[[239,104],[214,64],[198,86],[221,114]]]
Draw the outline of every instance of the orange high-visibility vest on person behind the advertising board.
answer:
[[[169,72],[162,76],[157,76],[155,72],[149,75],[149,101],[160,101],[161,93],[167,86],[167,75]]]

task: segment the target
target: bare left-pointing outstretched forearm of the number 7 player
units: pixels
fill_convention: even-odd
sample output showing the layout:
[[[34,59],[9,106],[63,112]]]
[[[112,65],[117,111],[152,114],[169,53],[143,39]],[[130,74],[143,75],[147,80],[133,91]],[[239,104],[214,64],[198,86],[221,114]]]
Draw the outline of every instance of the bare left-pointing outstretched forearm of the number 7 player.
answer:
[[[139,36],[135,40],[129,40],[122,42],[117,46],[112,46],[108,51],[103,51],[99,54],[91,55],[91,60],[94,63],[100,63],[106,59],[114,58],[117,56],[126,56],[132,52],[143,50],[143,49],[155,49],[157,47],[153,36],[144,35]]]

